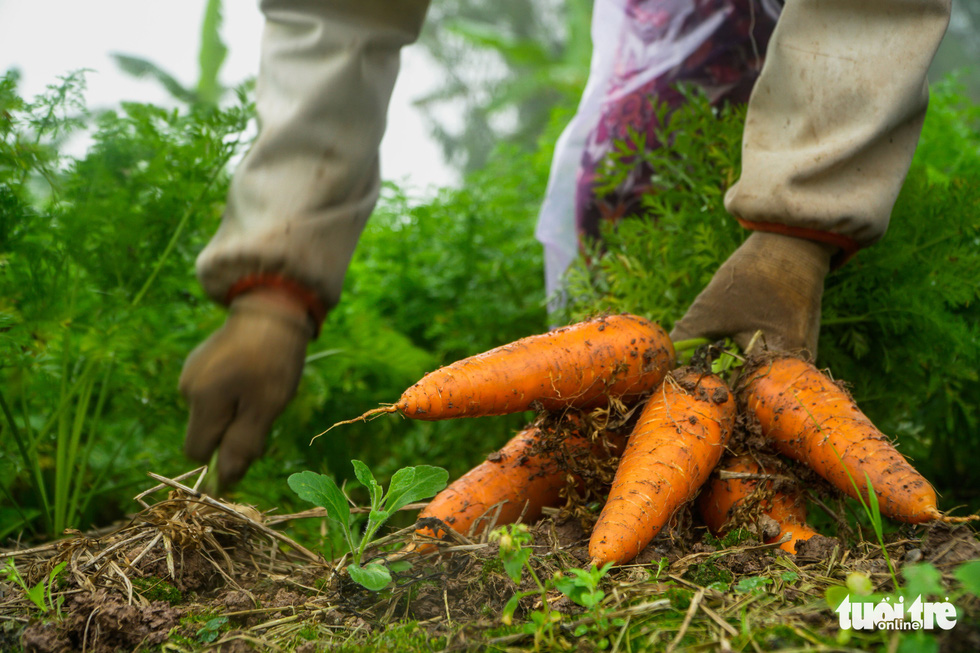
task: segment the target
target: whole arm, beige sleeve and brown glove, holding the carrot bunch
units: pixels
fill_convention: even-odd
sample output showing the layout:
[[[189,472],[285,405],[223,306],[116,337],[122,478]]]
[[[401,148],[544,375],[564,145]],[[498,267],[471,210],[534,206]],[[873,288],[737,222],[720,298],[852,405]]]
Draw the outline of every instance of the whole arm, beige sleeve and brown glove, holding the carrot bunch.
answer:
[[[885,233],[928,102],[950,0],[790,0],[749,100],[725,206],[748,240],[672,336],[757,329],[816,354],[824,276]]]

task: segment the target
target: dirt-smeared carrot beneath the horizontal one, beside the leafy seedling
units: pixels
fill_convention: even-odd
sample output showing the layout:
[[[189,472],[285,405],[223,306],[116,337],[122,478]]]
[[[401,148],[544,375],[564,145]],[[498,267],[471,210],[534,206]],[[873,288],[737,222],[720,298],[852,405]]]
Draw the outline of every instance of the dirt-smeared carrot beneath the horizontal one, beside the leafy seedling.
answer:
[[[607,442],[592,443],[573,430],[562,438],[553,428],[532,424],[437,494],[419,519],[436,517],[464,535],[483,532],[490,521],[481,520],[484,516],[495,515],[498,525],[518,519],[534,521],[543,508],[561,503],[562,490],[569,482],[581,483],[581,478],[568,471],[570,461],[590,454],[602,460],[622,451],[624,437],[611,432],[605,437]],[[446,535],[429,527],[417,532],[439,538]]]

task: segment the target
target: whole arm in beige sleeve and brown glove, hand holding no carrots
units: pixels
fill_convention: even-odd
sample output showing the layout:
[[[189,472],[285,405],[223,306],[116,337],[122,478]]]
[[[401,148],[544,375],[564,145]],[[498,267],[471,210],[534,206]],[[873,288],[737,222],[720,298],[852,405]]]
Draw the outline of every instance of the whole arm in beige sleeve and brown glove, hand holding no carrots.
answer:
[[[378,197],[378,147],[400,48],[427,0],[264,0],[258,138],[198,278],[228,320],[188,357],[186,453],[219,480],[261,455],[306,346],[340,297]]]

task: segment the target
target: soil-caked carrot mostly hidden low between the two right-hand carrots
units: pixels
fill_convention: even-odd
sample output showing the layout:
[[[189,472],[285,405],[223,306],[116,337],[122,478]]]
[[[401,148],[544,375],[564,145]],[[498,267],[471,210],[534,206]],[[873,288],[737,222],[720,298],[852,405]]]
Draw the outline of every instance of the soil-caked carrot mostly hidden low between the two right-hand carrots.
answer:
[[[749,456],[732,458],[719,469],[743,474],[771,474],[769,469],[763,469]],[[780,544],[779,548],[796,553],[797,542],[817,534],[807,526],[806,504],[799,493],[792,488],[773,488],[772,479],[765,480],[760,488],[757,479],[715,477],[698,497],[701,519],[715,535],[724,534],[734,511],[747,505],[746,500],[757,490],[761,491],[758,508],[779,526],[777,535],[764,538],[766,543],[778,542],[788,533],[790,539]]]

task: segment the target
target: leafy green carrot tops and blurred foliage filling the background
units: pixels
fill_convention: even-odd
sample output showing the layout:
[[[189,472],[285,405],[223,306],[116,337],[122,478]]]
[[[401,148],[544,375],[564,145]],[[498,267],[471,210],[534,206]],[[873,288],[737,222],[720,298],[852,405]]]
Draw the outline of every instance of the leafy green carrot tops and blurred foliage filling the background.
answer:
[[[191,467],[177,377],[224,317],[193,262],[254,131],[250,86],[219,83],[220,9],[207,1],[200,80],[170,89],[176,108],[90,115],[82,74],[36,99],[20,96],[16,74],[0,81],[2,538],[105,525],[133,509],[147,471]],[[964,3],[957,12],[937,74],[976,47],[980,17]],[[420,104],[467,173],[434,194],[385,187],[299,395],[233,498],[304,509],[284,479],[303,469],[348,478],[351,458],[381,477],[422,462],[456,476],[523,425],[523,415],[389,416],[310,445],[438,365],[547,328],[533,231],[554,141],[588,72],[590,13],[560,0],[433,4],[422,47],[446,81]],[[169,88],[165,66],[125,58]],[[821,338],[820,362],[899,437],[946,492],[944,507],[975,503],[980,489],[976,73],[934,94],[893,227],[828,280]],[[740,123],[739,109],[716,115],[700,100],[676,115],[676,147],[645,155],[661,171],[649,215],[611,230],[598,264],[576,265],[571,303],[555,319],[633,310],[669,326],[679,316],[743,237],[720,208]],[[64,155],[82,131],[91,146]]]

